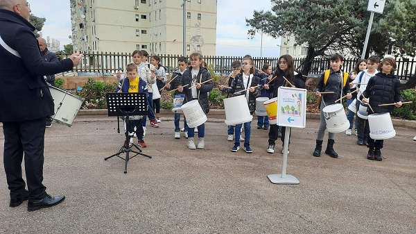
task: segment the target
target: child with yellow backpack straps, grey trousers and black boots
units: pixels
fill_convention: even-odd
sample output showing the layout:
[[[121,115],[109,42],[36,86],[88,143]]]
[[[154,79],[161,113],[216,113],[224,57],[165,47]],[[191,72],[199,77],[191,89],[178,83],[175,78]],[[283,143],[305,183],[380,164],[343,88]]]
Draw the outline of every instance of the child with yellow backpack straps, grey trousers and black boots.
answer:
[[[344,57],[339,53],[331,56],[331,69],[321,74],[318,85],[316,86],[316,97],[320,97],[320,126],[318,130],[318,137],[316,139],[315,151],[313,156],[320,157],[322,150],[322,142],[324,140],[325,129],[327,129],[327,123],[325,122],[324,112],[322,109],[330,104],[335,103],[337,99],[347,95],[347,99],[351,99],[352,95],[349,93],[349,81],[348,74],[341,71]],[[325,73],[329,76],[325,76]],[[345,76],[347,74],[347,76]],[[331,94],[321,94],[321,92],[333,92]],[[341,102],[343,99],[340,99]],[[325,153],[329,154],[332,158],[338,158],[338,154],[333,150],[335,133],[328,133],[328,144]]]

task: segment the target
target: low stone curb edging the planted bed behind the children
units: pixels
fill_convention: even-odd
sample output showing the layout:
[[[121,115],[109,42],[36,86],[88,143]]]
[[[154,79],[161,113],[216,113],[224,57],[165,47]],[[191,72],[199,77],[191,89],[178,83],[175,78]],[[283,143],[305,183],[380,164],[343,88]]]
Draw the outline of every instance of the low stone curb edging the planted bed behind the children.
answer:
[[[80,110],[78,115],[107,115],[107,109],[90,109],[90,110]],[[160,109],[161,115],[171,115],[173,112],[171,110]],[[225,115],[224,109],[211,109],[209,110],[208,116],[210,115]],[[320,119],[319,113],[306,113],[306,119]],[[392,124],[394,126],[404,127],[404,128],[414,128],[416,129],[415,120],[407,119],[392,119]]]

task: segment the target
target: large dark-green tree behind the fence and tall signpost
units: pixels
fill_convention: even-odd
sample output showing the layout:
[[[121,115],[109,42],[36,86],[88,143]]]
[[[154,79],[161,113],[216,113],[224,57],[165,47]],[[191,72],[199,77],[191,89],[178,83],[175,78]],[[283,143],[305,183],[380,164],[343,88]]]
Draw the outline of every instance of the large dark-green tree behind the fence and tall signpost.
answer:
[[[367,0],[271,0],[272,12],[254,10],[253,19],[246,19],[251,26],[248,34],[254,35],[262,31],[272,37],[293,35],[297,44],[307,48],[306,59],[302,63],[302,73],[308,74],[315,57],[328,58],[335,51],[347,49],[354,56],[361,56],[370,12],[367,11]],[[406,2],[406,3],[402,3]],[[394,48],[398,35],[386,33],[388,26],[399,27],[399,23],[388,24],[396,18],[404,17],[403,8],[413,11],[399,22],[406,21],[409,28],[395,32],[406,33],[407,42],[410,37],[415,40],[415,0],[392,0],[386,3],[385,14],[375,14],[372,34],[370,35],[367,53],[383,56],[389,48]],[[399,7],[397,7],[399,6]],[[413,8],[408,8],[413,7]],[[388,19],[384,22],[381,19]],[[410,22],[409,22],[410,21]],[[264,24],[264,22],[267,22]],[[412,24],[413,22],[413,24]],[[379,26],[380,25],[380,26]],[[388,25],[388,26],[386,26]],[[401,43],[404,43],[403,40]],[[410,42],[415,45],[416,42]],[[410,47],[406,47],[410,48]],[[414,48],[414,47],[413,47]],[[410,50],[406,50],[411,51]],[[413,49],[413,51],[415,51]]]

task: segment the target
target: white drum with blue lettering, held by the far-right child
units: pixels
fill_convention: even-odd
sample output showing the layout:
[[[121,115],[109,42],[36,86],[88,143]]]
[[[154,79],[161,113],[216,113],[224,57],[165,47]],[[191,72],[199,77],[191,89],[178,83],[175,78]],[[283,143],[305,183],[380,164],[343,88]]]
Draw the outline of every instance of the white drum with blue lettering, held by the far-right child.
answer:
[[[374,140],[384,140],[396,135],[390,113],[375,113],[368,115],[370,137]]]

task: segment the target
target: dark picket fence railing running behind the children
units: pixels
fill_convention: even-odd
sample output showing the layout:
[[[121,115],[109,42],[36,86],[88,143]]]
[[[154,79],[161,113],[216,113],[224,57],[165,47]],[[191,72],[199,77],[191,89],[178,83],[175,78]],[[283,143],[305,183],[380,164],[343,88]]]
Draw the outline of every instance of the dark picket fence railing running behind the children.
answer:
[[[177,59],[180,55],[157,55],[160,57],[160,63],[166,67],[167,73],[172,74],[177,70]],[[58,56],[58,59],[67,58],[67,56]],[[123,72],[125,65],[132,62],[131,53],[84,53],[84,58],[81,60],[73,72],[63,73],[62,76],[111,76],[116,72]],[[232,72],[231,64],[234,60],[243,60],[243,56],[205,56],[204,61],[207,65],[212,65],[214,72],[218,75],[228,75]],[[150,61],[150,58],[148,58]],[[274,70],[277,66],[279,58],[259,58],[253,57],[254,67],[261,69],[265,63],[272,65]],[[350,72],[354,69],[354,65],[358,61],[358,58],[347,58],[343,63],[343,70]],[[295,58],[293,63],[295,69],[302,70],[302,62],[304,58]],[[411,74],[415,74],[416,61],[415,58],[397,58],[397,72],[395,74],[402,78],[409,78]],[[323,58],[315,58],[312,62],[311,70],[309,74],[322,74],[325,69],[329,69],[330,61]]]

